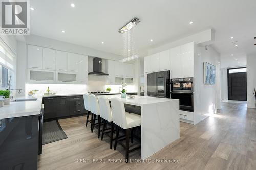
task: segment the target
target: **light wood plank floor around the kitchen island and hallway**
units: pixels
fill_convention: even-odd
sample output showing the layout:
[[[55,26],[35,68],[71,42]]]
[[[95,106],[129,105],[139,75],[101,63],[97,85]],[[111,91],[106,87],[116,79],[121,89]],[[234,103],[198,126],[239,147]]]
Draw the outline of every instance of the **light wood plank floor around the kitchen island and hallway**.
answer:
[[[179,163],[78,163],[77,159],[123,159],[124,150],[109,149],[85,127],[86,117],[59,120],[68,138],[43,146],[38,169],[256,169],[256,111],[244,103],[222,103],[215,114],[196,126],[180,123],[180,139],[150,159]],[[140,158],[140,151],[130,153]]]

